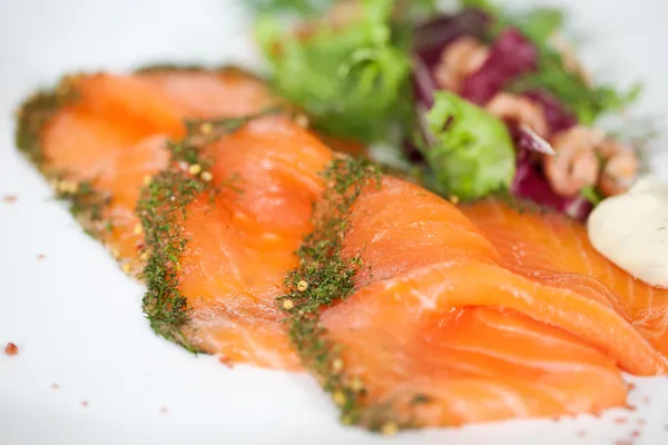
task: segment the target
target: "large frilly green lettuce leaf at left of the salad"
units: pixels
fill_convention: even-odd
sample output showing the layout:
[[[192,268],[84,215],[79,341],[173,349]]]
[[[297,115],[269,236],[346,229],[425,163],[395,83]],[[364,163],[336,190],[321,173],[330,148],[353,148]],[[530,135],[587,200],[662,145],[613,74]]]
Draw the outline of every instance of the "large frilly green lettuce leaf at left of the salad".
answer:
[[[383,139],[410,112],[405,34],[391,20],[394,1],[364,0],[344,28],[326,24],[299,38],[275,18],[256,23],[278,93],[304,108],[314,126],[364,142]]]

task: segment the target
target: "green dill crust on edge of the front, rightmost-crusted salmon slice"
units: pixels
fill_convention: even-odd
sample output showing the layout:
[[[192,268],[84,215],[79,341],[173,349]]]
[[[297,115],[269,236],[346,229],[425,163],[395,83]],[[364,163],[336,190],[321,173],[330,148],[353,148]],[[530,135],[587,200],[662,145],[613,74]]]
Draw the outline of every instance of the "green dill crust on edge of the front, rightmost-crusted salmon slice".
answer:
[[[345,373],[341,346],[328,338],[320,312],[354,291],[354,277],[364,265],[358,253],[342,255],[350,229],[348,215],[364,188],[381,187],[381,169],[360,159],[341,156],[323,174],[327,187],[314,212],[314,230],[297,250],[298,267],[286,277],[287,295],[277,298],[287,314],[291,342],[305,368],[314,373],[324,390],[341,409],[348,425],[393,433],[410,426],[397,421],[391,406],[369,405],[364,383]]]

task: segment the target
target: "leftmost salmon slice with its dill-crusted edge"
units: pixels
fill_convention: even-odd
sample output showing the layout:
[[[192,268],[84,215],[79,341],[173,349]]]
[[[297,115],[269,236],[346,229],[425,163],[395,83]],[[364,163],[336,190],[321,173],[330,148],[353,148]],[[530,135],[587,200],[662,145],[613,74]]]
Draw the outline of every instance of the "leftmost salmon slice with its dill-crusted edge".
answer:
[[[237,117],[275,102],[236,68],[72,76],[21,107],[17,140],[73,201],[86,229],[137,274],[144,237],[135,207],[167,166],[167,141],[184,137],[186,119]]]

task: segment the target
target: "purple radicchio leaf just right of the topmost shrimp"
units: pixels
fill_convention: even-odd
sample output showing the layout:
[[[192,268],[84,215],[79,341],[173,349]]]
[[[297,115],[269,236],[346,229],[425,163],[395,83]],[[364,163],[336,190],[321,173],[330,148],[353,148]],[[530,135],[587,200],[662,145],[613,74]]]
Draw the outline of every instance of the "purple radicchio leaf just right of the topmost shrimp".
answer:
[[[508,28],[490,48],[490,57],[478,71],[466,77],[461,96],[484,105],[503,86],[537,69],[538,50],[517,28]]]

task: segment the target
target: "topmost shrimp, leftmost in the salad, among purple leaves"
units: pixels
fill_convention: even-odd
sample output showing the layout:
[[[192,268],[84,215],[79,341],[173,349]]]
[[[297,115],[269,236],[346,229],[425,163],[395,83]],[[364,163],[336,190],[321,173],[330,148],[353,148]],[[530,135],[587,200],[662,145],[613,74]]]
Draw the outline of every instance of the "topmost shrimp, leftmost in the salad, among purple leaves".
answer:
[[[460,37],[445,47],[434,77],[440,88],[458,91],[469,75],[478,71],[490,55],[487,44],[472,37]]]

